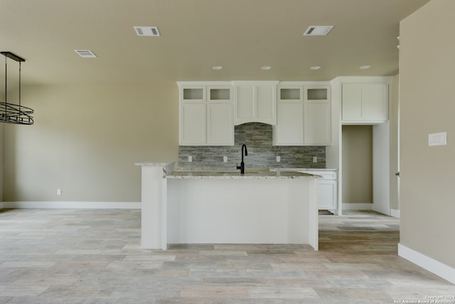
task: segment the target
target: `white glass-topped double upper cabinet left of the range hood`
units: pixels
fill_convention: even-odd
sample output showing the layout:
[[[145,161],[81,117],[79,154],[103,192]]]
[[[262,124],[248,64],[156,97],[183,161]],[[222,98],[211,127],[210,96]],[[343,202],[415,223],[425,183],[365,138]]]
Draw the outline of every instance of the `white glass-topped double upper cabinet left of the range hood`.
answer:
[[[179,145],[234,145],[232,85],[178,83]]]

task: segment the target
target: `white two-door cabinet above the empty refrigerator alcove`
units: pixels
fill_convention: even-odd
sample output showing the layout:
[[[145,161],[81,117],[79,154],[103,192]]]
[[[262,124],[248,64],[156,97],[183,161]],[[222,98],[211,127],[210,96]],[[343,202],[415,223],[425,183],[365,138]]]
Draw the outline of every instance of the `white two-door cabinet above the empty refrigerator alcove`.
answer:
[[[387,122],[388,97],[387,83],[343,83],[341,122],[345,125]]]

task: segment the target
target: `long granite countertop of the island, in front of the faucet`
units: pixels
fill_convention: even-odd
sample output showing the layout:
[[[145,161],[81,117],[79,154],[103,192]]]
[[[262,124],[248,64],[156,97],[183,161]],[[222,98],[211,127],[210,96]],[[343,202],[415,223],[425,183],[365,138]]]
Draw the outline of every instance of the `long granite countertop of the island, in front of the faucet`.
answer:
[[[306,174],[301,172],[280,172],[280,171],[172,171],[164,177],[167,179],[300,179],[300,178],[321,178],[319,175]]]

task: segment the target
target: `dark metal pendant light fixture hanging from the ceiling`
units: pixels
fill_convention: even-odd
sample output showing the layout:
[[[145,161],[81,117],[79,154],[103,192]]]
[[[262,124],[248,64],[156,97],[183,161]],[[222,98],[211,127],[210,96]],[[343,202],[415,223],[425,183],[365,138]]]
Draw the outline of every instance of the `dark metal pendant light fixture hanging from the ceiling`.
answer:
[[[25,59],[14,55],[11,52],[0,52],[5,56],[5,99],[4,103],[0,103],[0,122],[14,123],[17,125],[33,125],[33,110],[31,108],[21,105],[21,62]],[[8,58],[13,59],[19,63],[19,103],[15,105],[8,103]]]

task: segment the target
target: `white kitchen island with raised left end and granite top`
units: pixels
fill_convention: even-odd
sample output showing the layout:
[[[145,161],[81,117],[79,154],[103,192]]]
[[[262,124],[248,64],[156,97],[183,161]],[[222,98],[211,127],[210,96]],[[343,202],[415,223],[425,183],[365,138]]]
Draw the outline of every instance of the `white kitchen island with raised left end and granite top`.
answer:
[[[318,176],[142,167],[143,248],[168,243],[299,243],[318,250]]]

